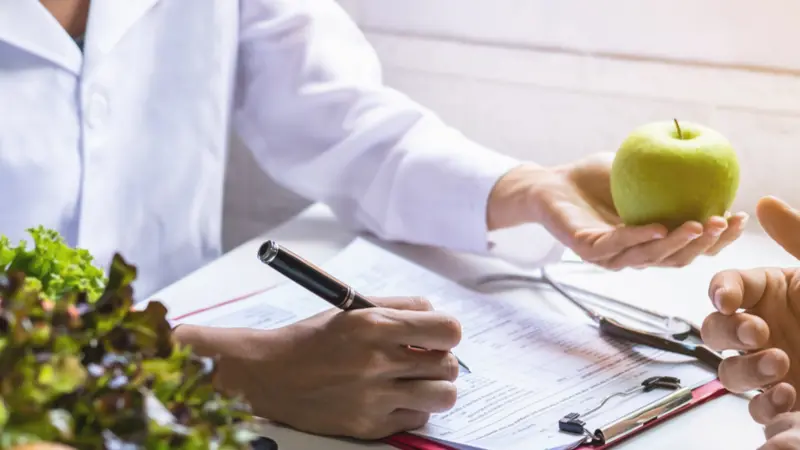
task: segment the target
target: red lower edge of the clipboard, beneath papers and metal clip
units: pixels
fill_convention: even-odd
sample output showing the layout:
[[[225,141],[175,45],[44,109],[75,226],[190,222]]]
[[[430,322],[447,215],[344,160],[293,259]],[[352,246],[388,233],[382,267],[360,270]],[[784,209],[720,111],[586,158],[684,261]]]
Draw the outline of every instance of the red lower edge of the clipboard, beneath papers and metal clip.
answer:
[[[662,417],[654,420],[643,427],[639,428],[635,432],[625,436],[624,438],[614,442],[613,444],[607,444],[602,447],[592,447],[588,445],[584,445],[578,447],[576,450],[605,450],[612,448],[613,446],[620,444],[634,436],[637,436],[644,432],[647,429],[650,429],[660,423],[663,423],[695,406],[699,406],[703,403],[711,401],[715,398],[722,397],[723,395],[727,394],[728,391],[725,387],[722,386],[722,383],[717,379],[706,383],[692,391],[692,400],[687,403],[686,405],[677,408],[668,414],[663,415]],[[391,445],[392,447],[398,448],[400,450],[456,450],[452,447],[448,447],[446,445],[440,444],[438,442],[430,441],[420,436],[416,436],[413,434],[402,433],[397,434],[395,436],[391,436],[384,440],[384,443]]]

